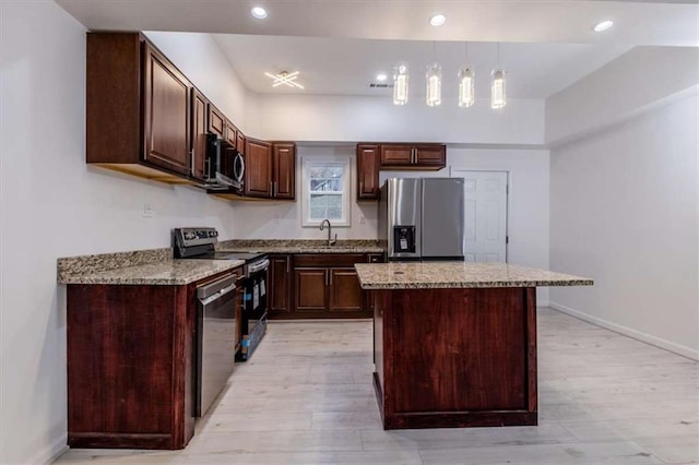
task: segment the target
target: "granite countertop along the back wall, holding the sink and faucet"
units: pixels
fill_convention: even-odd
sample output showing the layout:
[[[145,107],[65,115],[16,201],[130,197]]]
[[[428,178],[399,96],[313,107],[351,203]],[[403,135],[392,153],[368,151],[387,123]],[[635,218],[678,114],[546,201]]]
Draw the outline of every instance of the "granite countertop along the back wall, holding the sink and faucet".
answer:
[[[220,242],[222,252],[264,253],[383,253],[376,240],[345,239],[328,246],[325,240],[315,239],[235,239]]]

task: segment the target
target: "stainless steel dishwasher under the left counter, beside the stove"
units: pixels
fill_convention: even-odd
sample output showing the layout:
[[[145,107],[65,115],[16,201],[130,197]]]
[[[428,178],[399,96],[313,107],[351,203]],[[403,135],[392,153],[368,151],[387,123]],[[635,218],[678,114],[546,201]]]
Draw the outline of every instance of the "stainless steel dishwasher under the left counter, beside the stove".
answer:
[[[227,274],[197,288],[194,416],[203,416],[233,373],[237,274]]]

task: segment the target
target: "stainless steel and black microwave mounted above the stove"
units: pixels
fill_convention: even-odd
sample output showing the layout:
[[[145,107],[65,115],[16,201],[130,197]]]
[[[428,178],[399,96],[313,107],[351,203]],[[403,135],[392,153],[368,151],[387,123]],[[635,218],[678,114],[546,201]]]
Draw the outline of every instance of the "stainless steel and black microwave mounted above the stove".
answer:
[[[245,182],[245,157],[218,134],[209,133],[204,176],[208,189],[241,193]]]

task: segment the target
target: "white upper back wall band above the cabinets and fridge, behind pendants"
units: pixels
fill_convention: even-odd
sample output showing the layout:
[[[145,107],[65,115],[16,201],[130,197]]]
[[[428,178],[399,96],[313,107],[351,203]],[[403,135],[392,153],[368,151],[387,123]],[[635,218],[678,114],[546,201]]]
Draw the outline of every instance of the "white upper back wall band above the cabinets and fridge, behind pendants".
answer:
[[[415,99],[395,106],[389,97],[258,96],[260,135],[271,140],[333,142],[443,142],[543,144],[544,100],[510,99],[493,110],[478,99],[428,107]]]

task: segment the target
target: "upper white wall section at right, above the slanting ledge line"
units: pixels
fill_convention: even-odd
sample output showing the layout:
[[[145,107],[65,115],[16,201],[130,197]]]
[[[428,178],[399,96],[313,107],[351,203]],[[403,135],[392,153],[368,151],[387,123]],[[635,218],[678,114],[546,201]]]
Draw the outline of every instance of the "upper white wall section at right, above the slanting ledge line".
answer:
[[[546,100],[546,143],[648,110],[699,83],[699,48],[636,47]]]

